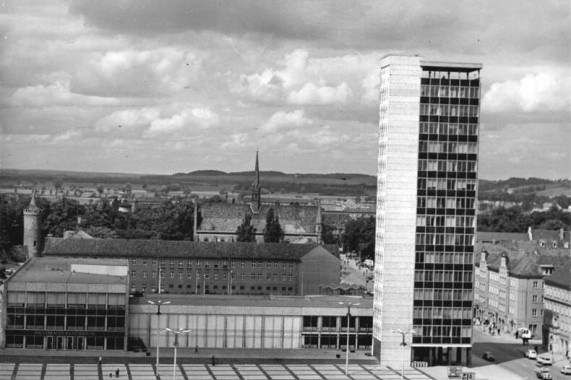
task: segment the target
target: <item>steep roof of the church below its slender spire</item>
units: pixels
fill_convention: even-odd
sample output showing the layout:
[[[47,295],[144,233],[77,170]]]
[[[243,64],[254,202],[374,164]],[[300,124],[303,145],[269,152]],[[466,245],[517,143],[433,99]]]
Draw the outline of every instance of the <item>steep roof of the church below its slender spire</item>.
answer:
[[[274,209],[279,217],[284,234],[303,235],[316,234],[318,207],[316,205],[268,205],[263,204],[260,211],[252,212],[250,205],[210,203],[200,206],[202,223],[197,229],[198,233],[236,233],[238,226],[244,221],[245,215],[250,215],[250,224],[262,233],[266,227],[266,214],[270,208]]]

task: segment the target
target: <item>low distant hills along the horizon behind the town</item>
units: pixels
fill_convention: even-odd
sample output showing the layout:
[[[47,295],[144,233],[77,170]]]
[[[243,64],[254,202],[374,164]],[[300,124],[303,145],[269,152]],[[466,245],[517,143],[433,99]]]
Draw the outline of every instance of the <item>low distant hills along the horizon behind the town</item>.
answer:
[[[64,184],[91,186],[108,184],[121,187],[126,183],[145,188],[163,185],[180,185],[197,190],[234,190],[248,192],[254,180],[254,171],[224,172],[220,170],[195,170],[189,173],[130,174],[73,172],[60,170],[0,170],[0,186],[13,188],[25,186],[51,186],[55,178],[62,178]],[[323,195],[365,195],[374,197],[377,192],[377,177],[360,173],[283,173],[268,170],[260,172],[262,188],[268,193],[299,193]],[[489,200],[520,201],[530,196],[549,199],[558,196],[571,197],[571,181],[542,178],[509,178],[506,180],[479,180],[479,198]],[[539,199],[539,200],[541,200]],[[532,201],[531,199],[529,199]]]

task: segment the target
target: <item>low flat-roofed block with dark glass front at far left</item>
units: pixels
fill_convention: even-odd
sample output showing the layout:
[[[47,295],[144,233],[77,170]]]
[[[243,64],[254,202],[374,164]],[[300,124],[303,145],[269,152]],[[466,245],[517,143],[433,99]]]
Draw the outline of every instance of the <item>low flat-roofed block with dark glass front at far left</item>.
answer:
[[[6,280],[0,347],[126,350],[127,260],[34,258]]]

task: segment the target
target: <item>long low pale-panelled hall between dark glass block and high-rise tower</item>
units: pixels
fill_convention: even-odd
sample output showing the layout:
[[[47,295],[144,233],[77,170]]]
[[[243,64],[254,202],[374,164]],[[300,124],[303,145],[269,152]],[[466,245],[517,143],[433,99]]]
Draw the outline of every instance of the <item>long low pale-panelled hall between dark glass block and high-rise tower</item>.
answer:
[[[157,315],[157,306],[148,302],[158,299],[163,302],[161,315]],[[167,301],[170,304],[164,304]],[[349,303],[350,349],[370,350],[373,300],[362,297],[135,297],[129,310],[129,336],[156,347],[158,326],[160,347],[173,344],[174,337],[165,332],[169,327],[190,330],[179,335],[179,347],[183,348],[344,349]]]

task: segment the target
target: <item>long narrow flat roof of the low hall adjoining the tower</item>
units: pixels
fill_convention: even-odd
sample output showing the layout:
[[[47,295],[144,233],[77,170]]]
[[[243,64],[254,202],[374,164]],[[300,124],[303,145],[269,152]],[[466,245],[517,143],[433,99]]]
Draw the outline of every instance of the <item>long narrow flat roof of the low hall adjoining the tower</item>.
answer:
[[[145,297],[132,297],[131,305],[149,305],[149,300],[160,299],[170,301],[172,306],[234,306],[234,307],[322,307],[347,309],[351,302],[351,309],[373,310],[373,297],[360,296],[242,296],[242,295],[189,295],[189,294],[160,294]],[[343,302],[340,304],[339,302]],[[356,305],[355,304],[359,304]]]

